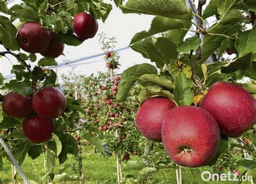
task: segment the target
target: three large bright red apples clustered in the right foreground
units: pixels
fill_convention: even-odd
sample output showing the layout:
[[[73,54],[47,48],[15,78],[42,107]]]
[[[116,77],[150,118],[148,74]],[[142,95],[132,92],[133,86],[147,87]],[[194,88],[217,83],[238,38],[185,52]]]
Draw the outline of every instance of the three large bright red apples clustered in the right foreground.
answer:
[[[256,122],[256,100],[242,87],[217,82],[199,107],[180,106],[165,97],[149,98],[136,115],[138,130],[161,142],[176,164],[206,166],[217,153],[220,135],[239,137]]]

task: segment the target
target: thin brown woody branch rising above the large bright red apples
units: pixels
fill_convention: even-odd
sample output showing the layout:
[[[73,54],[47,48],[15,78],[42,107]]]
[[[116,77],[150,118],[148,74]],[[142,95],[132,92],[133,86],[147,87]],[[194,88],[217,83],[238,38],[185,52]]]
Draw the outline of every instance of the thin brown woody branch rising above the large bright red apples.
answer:
[[[203,26],[203,20],[199,17],[202,16],[203,5],[205,3],[206,3],[206,0],[199,0],[198,1],[198,8],[197,8],[198,16],[196,16],[196,17],[197,17],[197,25],[199,27]],[[200,33],[196,33],[196,37],[200,38]],[[193,79],[194,83],[196,84],[197,88],[199,88],[201,93],[203,93],[204,92],[203,85],[201,84],[201,82],[199,81],[198,76],[197,76],[197,66],[198,66],[198,61],[200,59],[201,59],[201,46],[199,46],[198,49],[196,50],[196,58],[194,60],[194,69],[193,69],[192,79]]]

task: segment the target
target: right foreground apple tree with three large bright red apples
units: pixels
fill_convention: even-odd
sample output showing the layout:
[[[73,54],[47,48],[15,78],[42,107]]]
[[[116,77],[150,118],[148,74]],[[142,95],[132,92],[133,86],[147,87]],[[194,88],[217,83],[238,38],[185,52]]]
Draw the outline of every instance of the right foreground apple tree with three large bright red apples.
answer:
[[[149,109],[136,117],[139,131],[150,138],[154,131],[147,130],[147,123],[152,119],[159,124],[165,151],[180,166],[213,166],[224,156],[233,157],[227,153],[238,151],[237,165],[244,167],[242,174],[254,177],[254,1],[199,0],[197,5],[189,1],[189,7],[187,1],[178,0],[115,2],[123,13],[156,16],[150,29],[135,34],[130,43],[152,64],[126,69],[116,96],[124,102],[134,84],[143,87],[138,112],[147,104]],[[176,102],[178,107],[161,111],[163,102],[154,102],[157,107],[149,102],[157,98]],[[155,121],[162,116],[163,121]],[[143,117],[149,120],[143,122]],[[166,167],[172,162],[166,162]],[[127,168],[142,170],[138,178],[129,175],[127,182],[145,183],[164,168],[157,166],[160,163],[150,165],[146,159],[131,163]]]

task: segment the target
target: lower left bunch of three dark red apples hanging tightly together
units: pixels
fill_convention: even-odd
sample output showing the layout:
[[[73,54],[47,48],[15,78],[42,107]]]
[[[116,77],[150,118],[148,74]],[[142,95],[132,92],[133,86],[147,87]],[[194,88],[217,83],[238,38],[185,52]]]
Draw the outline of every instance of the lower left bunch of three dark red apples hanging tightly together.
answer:
[[[51,139],[56,126],[54,118],[62,115],[65,108],[64,94],[53,87],[42,88],[27,97],[10,91],[2,103],[2,109],[7,116],[24,118],[24,135],[38,144]]]

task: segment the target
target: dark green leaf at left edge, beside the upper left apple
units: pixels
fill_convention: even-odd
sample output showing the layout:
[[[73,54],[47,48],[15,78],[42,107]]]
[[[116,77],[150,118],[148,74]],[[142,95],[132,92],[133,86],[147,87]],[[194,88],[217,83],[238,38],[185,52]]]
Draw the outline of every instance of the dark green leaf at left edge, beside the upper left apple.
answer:
[[[19,51],[19,45],[16,41],[16,27],[4,16],[0,16],[0,25],[0,39],[3,46],[12,51]]]

